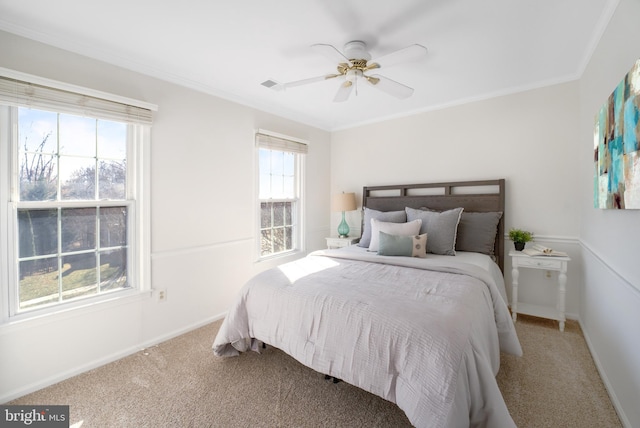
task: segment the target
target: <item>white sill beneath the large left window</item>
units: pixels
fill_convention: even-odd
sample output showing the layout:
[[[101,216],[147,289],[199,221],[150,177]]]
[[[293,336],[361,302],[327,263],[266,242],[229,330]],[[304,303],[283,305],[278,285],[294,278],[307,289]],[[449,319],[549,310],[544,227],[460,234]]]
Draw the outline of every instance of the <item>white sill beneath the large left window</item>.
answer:
[[[39,325],[48,324],[52,321],[70,319],[88,313],[95,313],[121,305],[140,302],[151,298],[151,293],[151,290],[127,290],[98,300],[77,302],[64,308],[50,308],[49,310],[19,314],[4,320],[0,325],[0,336],[26,328],[38,327]]]

